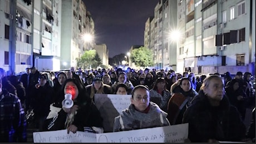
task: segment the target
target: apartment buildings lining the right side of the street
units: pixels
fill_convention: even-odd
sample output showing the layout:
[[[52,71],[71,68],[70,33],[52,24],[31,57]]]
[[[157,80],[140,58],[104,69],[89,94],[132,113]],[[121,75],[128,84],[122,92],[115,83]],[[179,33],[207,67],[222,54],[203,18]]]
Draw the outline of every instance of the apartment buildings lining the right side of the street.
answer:
[[[172,11],[176,17],[165,17]],[[178,0],[175,9],[173,1],[163,0],[156,5],[154,18],[156,68],[165,68],[169,63],[178,73],[250,71],[255,75],[255,1]],[[171,66],[175,65],[175,56],[171,55],[175,44],[170,45],[171,39],[166,40],[165,35],[175,28],[175,24],[166,24],[175,19],[181,34],[176,40],[176,68]],[[166,43],[169,51],[165,50]]]

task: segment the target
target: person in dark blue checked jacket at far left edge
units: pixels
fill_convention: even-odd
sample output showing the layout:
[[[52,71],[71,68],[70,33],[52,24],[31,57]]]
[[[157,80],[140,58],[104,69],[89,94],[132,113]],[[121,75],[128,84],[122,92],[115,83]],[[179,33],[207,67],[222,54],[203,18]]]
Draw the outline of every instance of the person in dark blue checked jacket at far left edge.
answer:
[[[0,142],[27,142],[26,116],[17,96],[2,89],[0,78]]]

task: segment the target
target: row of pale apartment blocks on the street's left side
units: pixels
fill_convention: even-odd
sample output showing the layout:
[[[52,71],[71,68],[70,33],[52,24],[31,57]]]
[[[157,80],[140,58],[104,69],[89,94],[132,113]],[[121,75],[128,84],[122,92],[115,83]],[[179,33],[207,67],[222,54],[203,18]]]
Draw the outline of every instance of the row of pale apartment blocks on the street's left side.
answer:
[[[82,37],[94,35],[94,22],[82,0],[0,0],[0,29],[0,65],[12,73],[31,66],[76,66],[76,58],[94,44]],[[40,62],[49,58],[54,69]]]

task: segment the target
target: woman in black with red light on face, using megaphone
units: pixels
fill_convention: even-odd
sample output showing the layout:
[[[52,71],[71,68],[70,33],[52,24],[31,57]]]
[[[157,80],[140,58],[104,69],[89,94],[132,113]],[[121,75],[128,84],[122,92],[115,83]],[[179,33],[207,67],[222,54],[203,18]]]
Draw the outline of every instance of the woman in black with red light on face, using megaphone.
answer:
[[[95,133],[103,132],[102,117],[99,110],[93,104],[90,95],[85,92],[85,87],[77,79],[67,79],[62,85],[61,95],[71,94],[73,106],[65,108],[62,106],[58,115],[48,125],[50,131],[67,129],[76,133],[76,131],[88,131]]]

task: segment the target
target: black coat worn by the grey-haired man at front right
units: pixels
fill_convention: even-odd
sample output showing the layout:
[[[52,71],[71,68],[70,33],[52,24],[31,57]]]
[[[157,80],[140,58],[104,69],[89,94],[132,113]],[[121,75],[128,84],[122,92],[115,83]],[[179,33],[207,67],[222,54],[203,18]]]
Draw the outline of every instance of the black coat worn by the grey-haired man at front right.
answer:
[[[191,142],[242,141],[245,126],[238,110],[229,104],[226,96],[219,106],[211,106],[208,96],[200,92],[186,109],[183,123],[189,123],[189,140]]]

